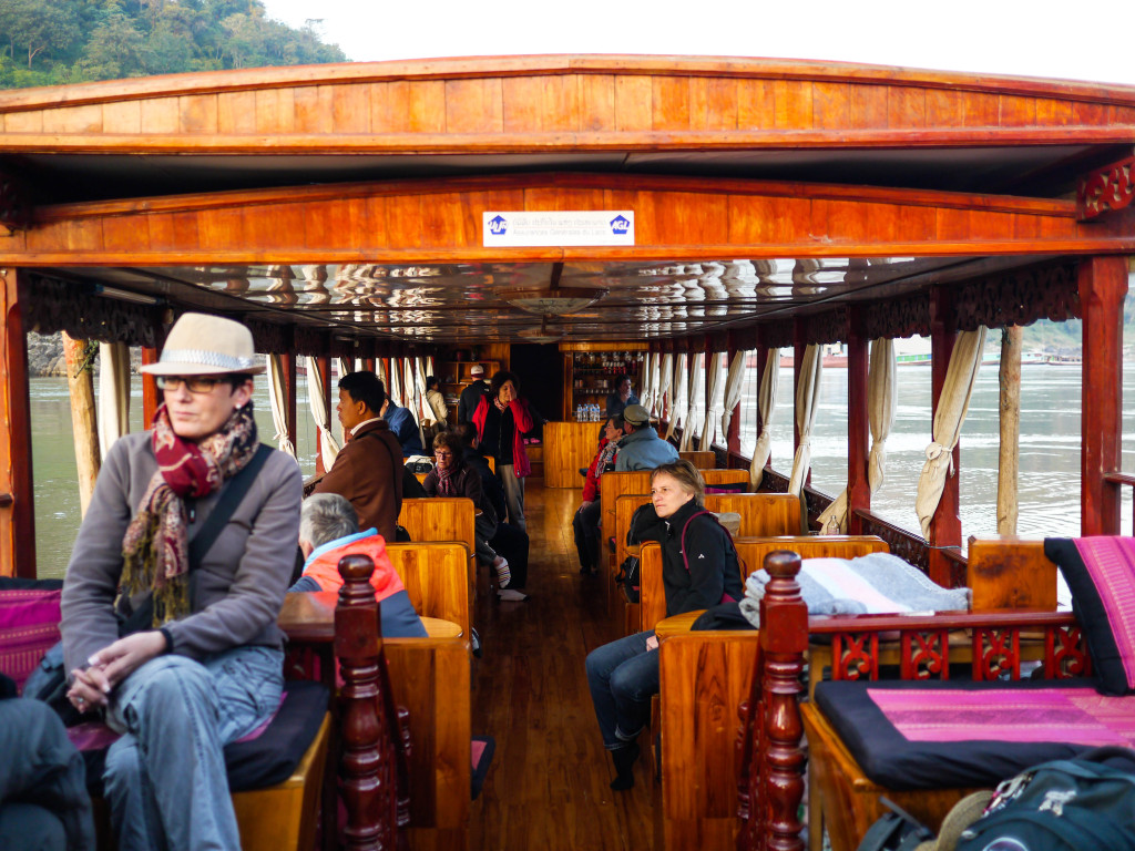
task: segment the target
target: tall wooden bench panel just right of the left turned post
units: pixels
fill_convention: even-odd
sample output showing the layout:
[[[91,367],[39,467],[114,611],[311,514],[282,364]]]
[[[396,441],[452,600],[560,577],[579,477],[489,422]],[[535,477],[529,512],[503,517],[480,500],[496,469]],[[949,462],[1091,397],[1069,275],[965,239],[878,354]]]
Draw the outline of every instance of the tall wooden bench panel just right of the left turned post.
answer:
[[[468,846],[472,716],[466,641],[382,641],[394,701],[410,713],[411,849]]]

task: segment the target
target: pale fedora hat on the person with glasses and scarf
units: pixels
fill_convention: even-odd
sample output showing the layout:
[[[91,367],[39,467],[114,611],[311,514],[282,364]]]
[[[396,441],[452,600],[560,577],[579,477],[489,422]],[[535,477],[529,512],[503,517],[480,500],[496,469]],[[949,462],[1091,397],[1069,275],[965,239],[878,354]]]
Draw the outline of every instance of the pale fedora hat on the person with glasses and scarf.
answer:
[[[142,368],[152,376],[259,374],[252,331],[237,321],[207,313],[185,313],[169,329],[158,363]]]

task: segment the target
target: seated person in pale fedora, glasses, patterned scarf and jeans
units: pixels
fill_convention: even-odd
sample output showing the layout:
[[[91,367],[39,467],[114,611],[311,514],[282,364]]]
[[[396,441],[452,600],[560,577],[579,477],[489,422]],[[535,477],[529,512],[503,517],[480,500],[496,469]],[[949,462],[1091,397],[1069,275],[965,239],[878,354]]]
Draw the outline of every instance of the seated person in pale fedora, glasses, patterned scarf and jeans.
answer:
[[[110,447],[67,567],[68,699],[123,734],[103,773],[120,849],[239,848],[222,748],[279,706],[303,492],[295,460],[257,438],[263,369],[238,322],[177,320],[142,368],[162,393],[152,429]],[[141,630],[119,638],[116,606]]]

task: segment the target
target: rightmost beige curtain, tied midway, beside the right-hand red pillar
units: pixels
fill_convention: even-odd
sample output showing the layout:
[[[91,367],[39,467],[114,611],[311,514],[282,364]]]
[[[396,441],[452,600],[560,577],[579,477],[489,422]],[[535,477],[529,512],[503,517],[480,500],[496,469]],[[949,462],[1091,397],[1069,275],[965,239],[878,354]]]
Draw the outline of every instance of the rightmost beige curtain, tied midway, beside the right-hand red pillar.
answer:
[[[934,516],[945,478],[953,474],[953,447],[958,445],[961,424],[969,408],[969,395],[977,380],[977,369],[982,365],[982,348],[985,346],[985,328],[964,331],[953,344],[953,354],[945,371],[945,385],[938,401],[934,414],[934,435],[926,447],[926,463],[918,477],[918,495],[915,511],[922,523],[923,537],[930,539],[930,521]]]

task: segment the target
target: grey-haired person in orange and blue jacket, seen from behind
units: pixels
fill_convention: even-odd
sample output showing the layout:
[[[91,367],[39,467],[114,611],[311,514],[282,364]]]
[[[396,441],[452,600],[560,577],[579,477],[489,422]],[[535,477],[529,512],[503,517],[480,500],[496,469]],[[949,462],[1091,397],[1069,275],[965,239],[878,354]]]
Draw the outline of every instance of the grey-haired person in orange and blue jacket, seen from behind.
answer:
[[[338,494],[314,494],[300,512],[300,549],[303,575],[289,591],[338,591],[343,584],[339,559],[370,556],[375,587],[386,638],[426,638],[426,627],[410,603],[402,579],[386,555],[386,541],[376,529],[359,531],[359,517],[351,503]]]

